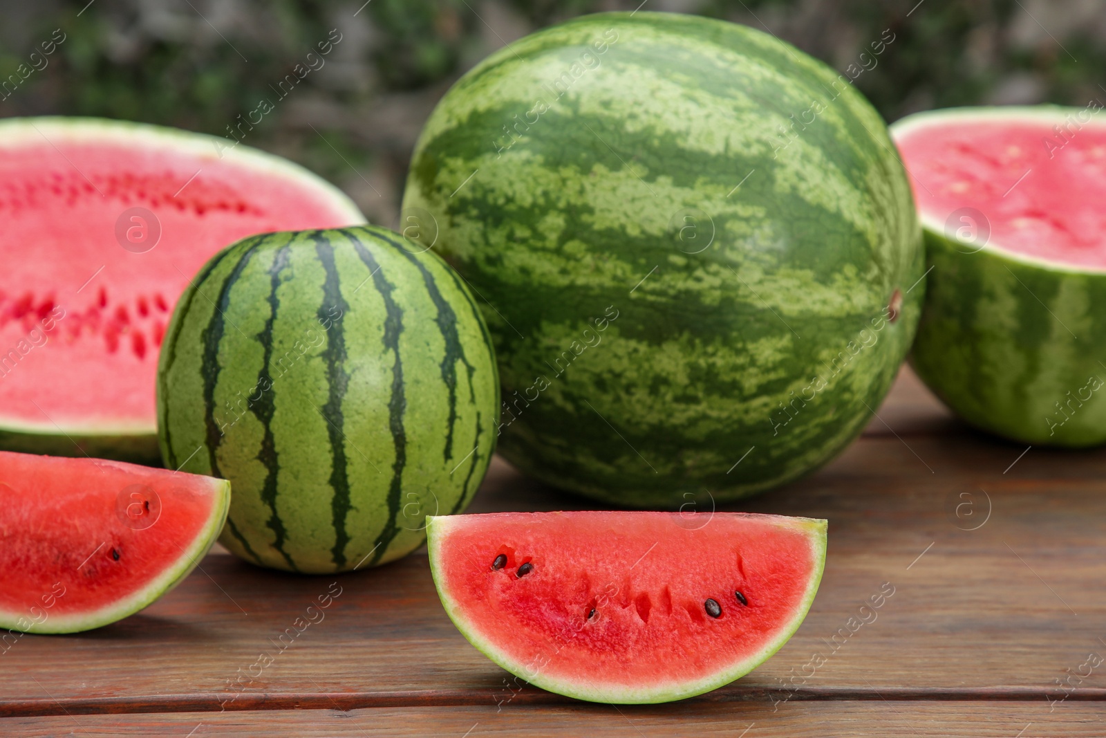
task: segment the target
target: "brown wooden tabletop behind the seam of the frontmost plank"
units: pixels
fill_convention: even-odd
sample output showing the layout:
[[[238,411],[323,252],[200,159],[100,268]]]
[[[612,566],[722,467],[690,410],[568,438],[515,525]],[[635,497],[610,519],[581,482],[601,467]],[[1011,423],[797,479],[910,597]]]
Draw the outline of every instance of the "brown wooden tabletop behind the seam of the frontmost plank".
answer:
[[[1106,454],[1023,450],[963,428],[869,435],[811,478],[730,506],[828,518],[830,555],[795,637],[692,701],[1062,697],[1055,680],[1106,655],[1106,592],[1087,586],[1106,574]],[[593,507],[497,460],[472,511]],[[894,594],[860,611],[881,588]],[[328,592],[322,620],[298,630]],[[1067,703],[1106,698],[1104,668],[1073,679]],[[494,706],[513,695],[504,677],[446,617],[425,552],[326,578],[212,553],[138,615],[9,644],[0,715]],[[567,704],[531,687],[511,701]]]

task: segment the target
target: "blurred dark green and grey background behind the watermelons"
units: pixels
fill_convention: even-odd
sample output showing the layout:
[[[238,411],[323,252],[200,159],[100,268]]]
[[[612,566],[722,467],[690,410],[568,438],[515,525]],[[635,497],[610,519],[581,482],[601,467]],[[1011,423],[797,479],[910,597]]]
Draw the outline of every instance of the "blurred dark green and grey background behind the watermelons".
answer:
[[[888,123],[953,105],[1106,104],[1102,0],[0,0],[0,117],[228,135],[252,114],[242,143],[307,166],[395,227],[415,139],[458,76],[541,27],[638,7],[745,23],[862,70],[855,84]],[[302,80],[279,86],[296,64]],[[262,98],[276,104],[253,113]]]

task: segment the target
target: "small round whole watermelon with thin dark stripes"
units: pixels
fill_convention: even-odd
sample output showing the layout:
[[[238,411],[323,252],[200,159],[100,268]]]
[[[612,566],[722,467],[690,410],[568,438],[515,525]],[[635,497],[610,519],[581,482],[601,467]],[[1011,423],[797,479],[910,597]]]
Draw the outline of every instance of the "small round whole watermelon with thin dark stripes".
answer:
[[[378,227],[267,233],[216,254],[158,367],[166,466],[230,480],[220,542],[265,567],[359,569],[472,499],[499,381],[468,289]]]

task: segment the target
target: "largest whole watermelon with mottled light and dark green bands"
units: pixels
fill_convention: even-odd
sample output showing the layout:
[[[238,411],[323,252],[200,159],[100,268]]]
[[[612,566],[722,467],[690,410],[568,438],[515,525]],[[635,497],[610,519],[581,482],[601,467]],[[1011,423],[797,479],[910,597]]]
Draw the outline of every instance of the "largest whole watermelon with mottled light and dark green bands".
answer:
[[[617,505],[833,457],[924,292],[906,174],[849,77],[690,15],[588,15],[479,64],[422,131],[403,221],[481,300],[503,455]]]

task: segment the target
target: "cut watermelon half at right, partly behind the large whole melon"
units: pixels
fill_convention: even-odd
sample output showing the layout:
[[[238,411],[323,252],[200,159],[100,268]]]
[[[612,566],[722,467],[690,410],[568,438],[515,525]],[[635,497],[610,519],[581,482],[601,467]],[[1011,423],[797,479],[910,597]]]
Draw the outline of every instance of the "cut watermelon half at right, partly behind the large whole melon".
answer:
[[[1106,121],[1085,108],[933,111],[894,126],[931,289],[912,363],[969,423],[1106,443]]]

